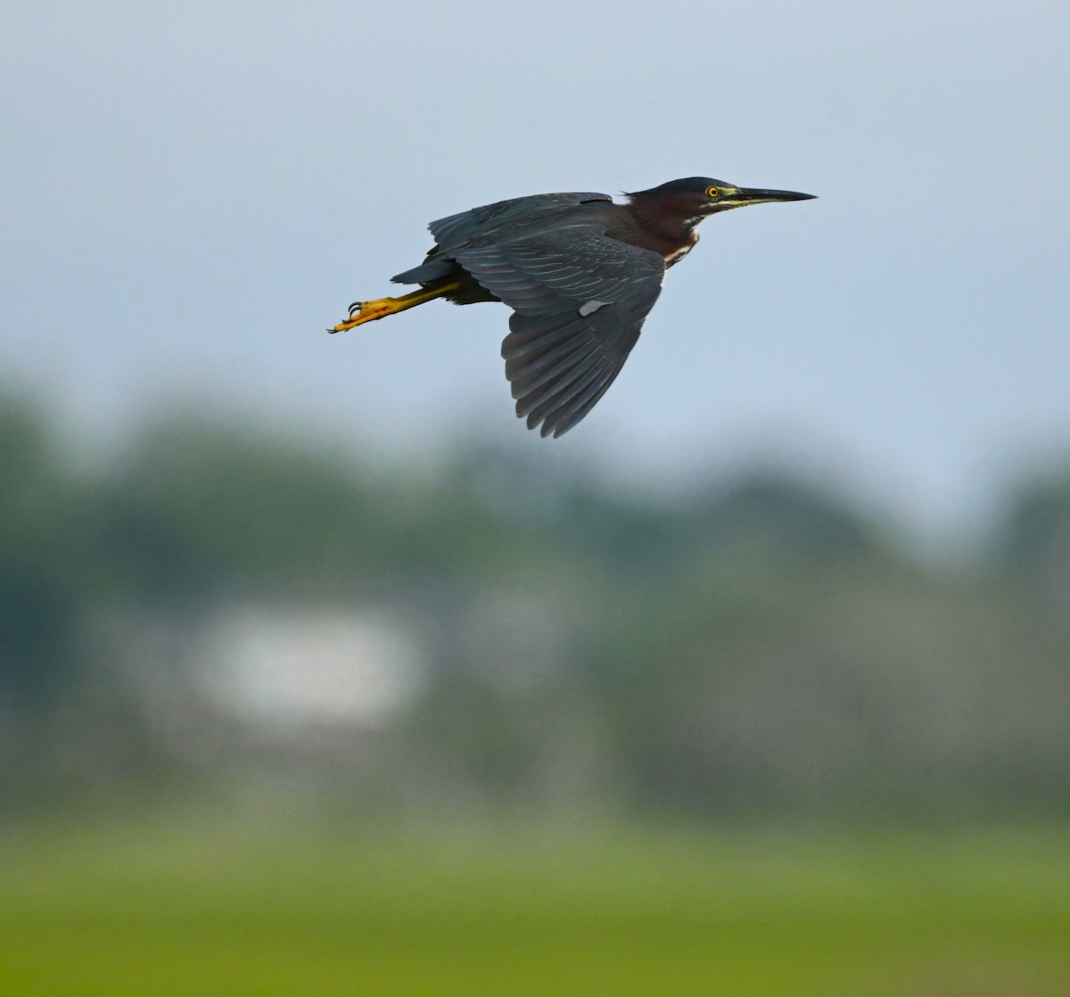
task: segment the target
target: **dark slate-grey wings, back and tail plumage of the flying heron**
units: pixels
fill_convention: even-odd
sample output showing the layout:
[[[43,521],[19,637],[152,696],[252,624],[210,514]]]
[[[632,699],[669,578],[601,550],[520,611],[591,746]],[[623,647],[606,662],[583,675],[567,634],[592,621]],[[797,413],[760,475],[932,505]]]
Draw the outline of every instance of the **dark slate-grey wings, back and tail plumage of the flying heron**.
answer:
[[[424,263],[392,278],[467,275],[449,300],[513,309],[505,375],[517,415],[544,436],[567,432],[606,394],[661,290],[664,259],[608,234],[620,209],[605,194],[546,194],[440,218]]]

